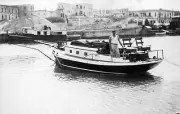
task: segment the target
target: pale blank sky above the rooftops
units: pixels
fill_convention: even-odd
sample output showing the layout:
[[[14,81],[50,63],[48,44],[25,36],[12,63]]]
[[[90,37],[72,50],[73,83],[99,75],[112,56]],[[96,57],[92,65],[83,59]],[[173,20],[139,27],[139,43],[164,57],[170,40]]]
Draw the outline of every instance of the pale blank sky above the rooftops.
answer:
[[[57,3],[68,2],[92,3],[96,9],[108,8],[129,8],[130,10],[139,9],[169,9],[180,10],[180,0],[0,0],[4,5],[34,4],[35,9],[55,10]]]

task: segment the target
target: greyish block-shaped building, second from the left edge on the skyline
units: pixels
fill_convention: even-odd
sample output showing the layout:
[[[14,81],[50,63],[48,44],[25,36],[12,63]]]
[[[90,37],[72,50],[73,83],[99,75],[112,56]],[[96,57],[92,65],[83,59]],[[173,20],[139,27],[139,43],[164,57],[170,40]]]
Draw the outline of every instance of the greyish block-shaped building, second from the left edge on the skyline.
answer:
[[[16,5],[18,7],[19,17],[24,17],[24,16],[32,16],[34,12],[34,5],[32,4],[24,4],[24,5]]]

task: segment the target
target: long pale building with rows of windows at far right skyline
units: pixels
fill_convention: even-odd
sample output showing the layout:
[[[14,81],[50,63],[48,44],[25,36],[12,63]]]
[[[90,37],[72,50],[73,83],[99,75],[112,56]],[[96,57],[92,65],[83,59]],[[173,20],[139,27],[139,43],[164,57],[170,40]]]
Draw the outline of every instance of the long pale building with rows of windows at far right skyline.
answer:
[[[169,24],[171,22],[172,17],[174,16],[174,11],[172,10],[139,10],[139,11],[131,11],[129,16],[137,17],[140,20],[148,19],[150,20],[150,24],[160,23],[160,24]]]

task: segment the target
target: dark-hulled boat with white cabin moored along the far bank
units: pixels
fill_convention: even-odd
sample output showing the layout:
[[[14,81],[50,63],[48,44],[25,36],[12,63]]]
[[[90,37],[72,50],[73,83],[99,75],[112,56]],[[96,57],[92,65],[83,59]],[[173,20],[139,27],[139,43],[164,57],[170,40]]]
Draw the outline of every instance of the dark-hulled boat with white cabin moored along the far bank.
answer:
[[[50,27],[45,26],[42,30],[35,30],[31,27],[23,27],[22,33],[9,34],[10,41],[34,41],[42,40],[49,42],[77,40],[80,39],[80,35],[71,37],[67,35],[66,30],[51,30]]]

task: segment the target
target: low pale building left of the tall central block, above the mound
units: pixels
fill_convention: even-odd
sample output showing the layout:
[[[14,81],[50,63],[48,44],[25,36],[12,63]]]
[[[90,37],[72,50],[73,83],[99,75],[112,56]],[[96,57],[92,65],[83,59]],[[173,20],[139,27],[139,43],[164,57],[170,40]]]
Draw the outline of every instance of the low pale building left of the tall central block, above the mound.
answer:
[[[60,17],[61,14],[57,11],[48,11],[48,10],[36,10],[32,12],[33,15],[36,15],[40,18],[48,18],[48,17]]]

